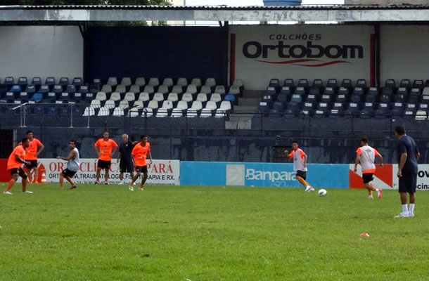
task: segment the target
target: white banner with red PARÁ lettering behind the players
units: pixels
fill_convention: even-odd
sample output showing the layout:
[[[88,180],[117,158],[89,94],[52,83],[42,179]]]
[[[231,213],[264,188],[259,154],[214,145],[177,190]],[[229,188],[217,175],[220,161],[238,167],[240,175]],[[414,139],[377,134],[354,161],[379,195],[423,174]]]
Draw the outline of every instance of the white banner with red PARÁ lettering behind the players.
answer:
[[[80,169],[73,176],[75,183],[94,183],[96,181],[98,159],[80,159]],[[42,158],[39,162],[39,181],[46,183],[58,183],[60,172],[67,167],[67,162],[59,159]],[[120,183],[120,166],[116,159],[112,159],[109,172],[109,183]],[[101,181],[104,180],[104,171],[101,171]],[[129,183],[131,176],[124,173],[124,182]],[[140,183],[140,179],[136,184]],[[153,160],[148,164],[148,185],[180,185],[180,161],[179,160]]]

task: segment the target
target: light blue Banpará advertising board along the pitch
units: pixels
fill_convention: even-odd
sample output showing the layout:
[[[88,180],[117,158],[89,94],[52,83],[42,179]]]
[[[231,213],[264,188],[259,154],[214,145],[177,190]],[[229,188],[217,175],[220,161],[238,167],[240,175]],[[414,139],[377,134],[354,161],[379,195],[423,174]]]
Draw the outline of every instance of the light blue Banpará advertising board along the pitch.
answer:
[[[181,185],[301,187],[290,163],[181,162]],[[308,164],[307,181],[316,188],[348,188],[348,164]]]

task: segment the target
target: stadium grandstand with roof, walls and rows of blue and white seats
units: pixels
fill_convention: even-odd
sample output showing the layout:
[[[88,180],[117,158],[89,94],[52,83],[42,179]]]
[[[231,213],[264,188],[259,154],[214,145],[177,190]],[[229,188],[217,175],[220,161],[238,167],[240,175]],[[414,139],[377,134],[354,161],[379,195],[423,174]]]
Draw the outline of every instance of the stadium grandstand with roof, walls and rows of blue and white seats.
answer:
[[[163,159],[278,162],[296,138],[311,162],[349,163],[365,134],[395,162],[392,128],[405,124],[418,141],[429,131],[428,11],[3,6],[2,142],[31,128],[46,157],[69,136],[94,157],[103,130],[144,131]],[[136,20],[218,26],[100,25]]]

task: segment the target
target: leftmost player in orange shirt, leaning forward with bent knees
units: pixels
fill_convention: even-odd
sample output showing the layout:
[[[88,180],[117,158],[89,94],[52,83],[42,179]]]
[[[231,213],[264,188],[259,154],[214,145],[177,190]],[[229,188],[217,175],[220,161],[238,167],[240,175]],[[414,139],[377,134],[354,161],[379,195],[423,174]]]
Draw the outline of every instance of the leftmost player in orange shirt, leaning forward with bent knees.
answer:
[[[6,187],[6,190],[4,190],[4,194],[6,195],[12,195],[12,192],[10,191],[13,187],[13,185],[18,181],[18,176],[23,178],[23,192],[25,193],[32,193],[32,191],[27,190],[27,174],[25,174],[25,171],[23,170],[22,166],[23,164],[30,164],[29,161],[26,161],[25,158],[25,148],[28,148],[28,145],[30,145],[30,142],[27,138],[23,138],[23,141],[13,150],[11,155],[8,159],[8,171],[11,171],[12,179],[9,181],[8,186]]]

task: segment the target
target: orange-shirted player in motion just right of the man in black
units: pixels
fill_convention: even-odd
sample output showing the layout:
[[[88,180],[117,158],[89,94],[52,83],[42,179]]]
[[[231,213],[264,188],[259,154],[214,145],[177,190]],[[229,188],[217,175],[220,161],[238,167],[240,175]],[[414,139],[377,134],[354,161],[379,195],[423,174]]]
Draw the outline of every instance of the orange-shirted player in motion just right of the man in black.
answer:
[[[151,143],[148,142],[148,136],[143,135],[140,137],[140,143],[134,145],[131,155],[134,158],[134,165],[136,166],[136,175],[129,184],[129,190],[134,190],[134,182],[137,181],[137,178],[139,178],[140,174],[143,173],[143,178],[141,179],[141,184],[139,188],[139,190],[143,191],[143,185],[148,179],[148,166],[146,164],[147,155],[149,155],[149,159],[151,159],[150,164],[152,164]]]

